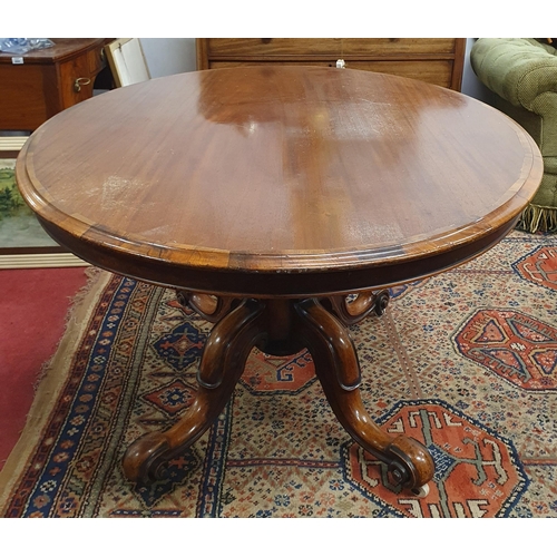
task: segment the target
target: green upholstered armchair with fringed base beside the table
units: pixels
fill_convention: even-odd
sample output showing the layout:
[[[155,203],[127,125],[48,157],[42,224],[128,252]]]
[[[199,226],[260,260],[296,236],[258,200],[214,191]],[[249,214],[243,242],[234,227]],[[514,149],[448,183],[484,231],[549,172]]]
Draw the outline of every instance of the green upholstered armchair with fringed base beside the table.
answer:
[[[478,39],[470,63],[496,94],[496,108],[520,124],[544,156],[541,185],[518,227],[557,232],[557,50],[536,39]]]

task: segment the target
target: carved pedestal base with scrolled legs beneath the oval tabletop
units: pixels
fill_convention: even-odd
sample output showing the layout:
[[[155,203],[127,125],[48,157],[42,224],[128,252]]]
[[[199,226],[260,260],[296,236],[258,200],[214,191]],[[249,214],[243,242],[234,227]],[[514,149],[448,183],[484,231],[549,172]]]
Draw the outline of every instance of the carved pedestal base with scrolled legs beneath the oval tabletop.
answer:
[[[189,295],[189,294],[188,294]],[[223,315],[206,342],[198,372],[198,390],[185,416],[168,431],[153,432],[127,450],[124,471],[128,479],[150,482],[174,456],[194,443],[214,422],[240,380],[253,346],[267,353],[292,354],[306,346],[315,372],[336,418],[365,450],[389,466],[394,482],[421,488],[432,477],[433,460],[418,441],[384,433],[363,407],[360,365],[355,348],[341,317],[317,300],[234,300],[192,296],[187,302],[209,315]],[[205,296],[205,297],[204,297]],[[209,300],[211,297],[211,300]],[[362,301],[363,311],[369,313]],[[334,311],[334,310],[333,310]]]

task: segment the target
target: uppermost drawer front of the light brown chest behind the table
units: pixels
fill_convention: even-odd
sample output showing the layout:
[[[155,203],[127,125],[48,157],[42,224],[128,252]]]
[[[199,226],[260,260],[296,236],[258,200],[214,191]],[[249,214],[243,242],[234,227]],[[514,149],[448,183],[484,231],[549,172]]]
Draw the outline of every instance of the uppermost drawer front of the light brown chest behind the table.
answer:
[[[450,55],[456,39],[207,39],[208,58]]]

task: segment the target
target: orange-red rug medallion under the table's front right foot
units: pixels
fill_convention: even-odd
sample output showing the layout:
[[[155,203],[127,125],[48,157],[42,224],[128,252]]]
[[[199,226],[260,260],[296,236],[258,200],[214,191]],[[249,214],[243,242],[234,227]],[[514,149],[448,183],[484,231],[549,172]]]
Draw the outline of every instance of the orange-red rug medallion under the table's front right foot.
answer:
[[[343,447],[346,479],[394,515],[505,517],[528,486],[511,441],[443,401],[399,402],[378,423],[391,434],[421,441],[436,463],[430,492],[419,499],[392,485],[387,466],[359,444]]]

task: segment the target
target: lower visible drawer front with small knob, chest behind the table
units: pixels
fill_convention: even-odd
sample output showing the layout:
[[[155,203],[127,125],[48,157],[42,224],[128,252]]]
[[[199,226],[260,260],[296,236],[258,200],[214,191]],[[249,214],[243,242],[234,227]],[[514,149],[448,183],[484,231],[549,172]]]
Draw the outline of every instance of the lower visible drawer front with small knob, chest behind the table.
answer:
[[[233,68],[237,66],[261,66],[257,61],[214,61],[211,68]],[[329,66],[335,67],[336,60],[317,62],[264,62],[265,66]],[[450,60],[428,60],[428,61],[348,61],[346,68],[365,71],[380,71],[393,76],[420,79],[427,84],[450,87],[452,78],[452,62]],[[339,71],[342,71],[341,69]]]

